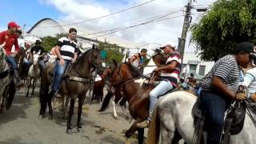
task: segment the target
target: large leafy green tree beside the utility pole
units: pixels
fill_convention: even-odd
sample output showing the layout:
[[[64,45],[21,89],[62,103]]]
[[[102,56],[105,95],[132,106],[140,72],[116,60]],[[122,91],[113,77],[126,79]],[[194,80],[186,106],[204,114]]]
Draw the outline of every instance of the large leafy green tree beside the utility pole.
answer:
[[[256,0],[218,0],[191,27],[191,42],[205,61],[234,53],[238,42],[256,38]]]

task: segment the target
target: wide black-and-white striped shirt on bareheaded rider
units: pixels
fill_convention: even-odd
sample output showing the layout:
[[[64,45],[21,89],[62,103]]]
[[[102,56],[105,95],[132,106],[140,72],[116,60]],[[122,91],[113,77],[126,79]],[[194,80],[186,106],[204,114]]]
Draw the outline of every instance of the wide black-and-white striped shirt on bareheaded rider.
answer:
[[[78,44],[67,37],[58,39],[57,46],[60,46],[60,53],[65,60],[72,60],[74,53],[78,52]]]

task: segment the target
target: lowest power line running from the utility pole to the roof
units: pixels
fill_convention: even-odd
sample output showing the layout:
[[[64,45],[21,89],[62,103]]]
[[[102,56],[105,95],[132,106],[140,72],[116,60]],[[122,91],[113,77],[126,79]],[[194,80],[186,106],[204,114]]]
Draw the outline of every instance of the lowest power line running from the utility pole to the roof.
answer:
[[[155,21],[142,22],[142,23],[134,25],[134,26],[127,26],[126,28],[124,28],[122,30],[116,30],[116,31],[113,31],[113,32],[110,32],[110,33],[107,33],[107,34],[102,34],[102,35],[93,37],[93,38],[100,38],[100,37],[103,37],[103,36],[106,36],[106,35],[109,35],[109,34],[117,33],[119,31],[128,30],[128,29],[134,28],[136,26],[143,26],[143,25],[146,25],[146,24],[150,24],[150,23],[154,23],[154,22],[161,22],[161,21],[165,21],[165,20],[168,20],[168,19],[171,19],[171,18],[178,18],[178,17],[182,17],[182,16],[184,16],[184,14],[179,15],[179,16],[175,16],[175,17],[170,17],[170,18],[163,18],[163,19],[159,19],[159,20],[155,20]],[[91,39],[93,39],[93,38],[91,38]]]

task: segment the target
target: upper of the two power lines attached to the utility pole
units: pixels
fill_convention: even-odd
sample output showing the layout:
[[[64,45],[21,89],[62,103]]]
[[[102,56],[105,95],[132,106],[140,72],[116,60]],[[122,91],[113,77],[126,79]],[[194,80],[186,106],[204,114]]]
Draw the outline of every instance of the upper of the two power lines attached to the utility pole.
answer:
[[[169,13],[165,13],[164,15],[159,15],[158,16],[154,16],[154,17],[151,17],[150,18],[147,18],[147,21],[146,22],[151,22],[151,21],[154,21],[156,19],[160,19],[160,18],[165,18],[167,16],[169,16],[170,14],[176,14],[178,12],[181,12],[182,9],[179,9],[179,10],[174,10],[174,11],[170,11]],[[160,16],[160,17],[159,17]],[[157,18],[156,18],[157,17]],[[152,19],[153,18],[153,19]],[[150,19],[150,20],[148,20]],[[145,21],[145,20],[144,20]],[[140,21],[142,22],[142,21]],[[144,23],[144,22],[142,22]],[[134,25],[138,25],[138,24],[134,24]],[[102,30],[102,31],[98,31],[98,32],[94,32],[94,33],[89,33],[88,35],[91,35],[91,34],[99,34],[99,33],[106,33],[106,32],[111,32],[111,31],[115,31],[115,30],[122,30],[122,29],[126,29],[127,26],[121,26],[121,27],[117,27],[117,28],[113,28],[113,29],[110,29],[110,30]],[[129,26],[128,26],[129,27]]]

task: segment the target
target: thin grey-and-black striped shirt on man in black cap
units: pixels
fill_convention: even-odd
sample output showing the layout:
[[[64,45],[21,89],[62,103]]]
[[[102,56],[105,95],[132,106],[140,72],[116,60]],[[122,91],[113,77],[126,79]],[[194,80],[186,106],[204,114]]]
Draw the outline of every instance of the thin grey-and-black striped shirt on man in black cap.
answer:
[[[214,76],[222,78],[227,89],[236,91],[240,82],[240,70],[233,55],[226,55],[220,58],[206,74],[202,81],[202,90],[213,90],[212,80]]]

